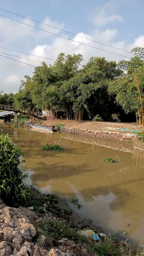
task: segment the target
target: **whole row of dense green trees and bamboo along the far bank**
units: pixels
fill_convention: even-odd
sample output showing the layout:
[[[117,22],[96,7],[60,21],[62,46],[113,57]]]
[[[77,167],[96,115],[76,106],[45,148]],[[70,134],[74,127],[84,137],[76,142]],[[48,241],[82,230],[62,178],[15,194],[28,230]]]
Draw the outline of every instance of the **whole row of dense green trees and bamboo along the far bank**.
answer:
[[[79,121],[95,116],[109,121],[115,113],[117,121],[134,121],[136,115],[137,124],[143,126],[144,48],[132,53],[130,61],[116,64],[91,57],[83,66],[82,55],[60,53],[54,65],[42,62],[32,77],[25,76],[15,104],[27,110],[49,109],[54,118]]]

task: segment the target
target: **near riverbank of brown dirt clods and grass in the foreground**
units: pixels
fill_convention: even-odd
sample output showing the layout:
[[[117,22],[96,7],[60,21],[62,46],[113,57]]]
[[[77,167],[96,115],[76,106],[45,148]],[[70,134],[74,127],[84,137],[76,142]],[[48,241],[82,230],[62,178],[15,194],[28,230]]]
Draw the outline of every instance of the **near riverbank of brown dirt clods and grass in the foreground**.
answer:
[[[32,189],[34,191],[34,189]],[[38,200],[51,200],[37,190]],[[115,237],[103,236],[99,227],[90,219],[77,213],[66,214],[70,208],[64,200],[57,199],[41,205],[37,211],[7,206],[0,201],[1,227],[0,252],[2,256],[126,256],[142,255],[143,250],[118,242]],[[51,210],[48,207],[51,206]],[[58,207],[58,208],[57,208]],[[62,208],[61,208],[62,207]],[[56,208],[58,211],[56,211]],[[93,233],[100,238],[94,241]],[[89,234],[89,235],[87,235]],[[101,235],[100,235],[101,234]]]

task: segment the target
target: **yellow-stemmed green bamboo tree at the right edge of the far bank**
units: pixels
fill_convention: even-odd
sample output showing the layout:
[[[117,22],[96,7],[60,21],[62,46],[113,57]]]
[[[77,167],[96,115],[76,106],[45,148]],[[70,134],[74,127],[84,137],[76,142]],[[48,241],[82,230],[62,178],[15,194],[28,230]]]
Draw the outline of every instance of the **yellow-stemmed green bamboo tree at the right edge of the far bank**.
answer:
[[[116,95],[126,113],[135,112],[137,124],[143,127],[144,48],[136,47],[131,52],[134,57],[130,61],[119,62],[122,75],[109,83],[109,92]]]

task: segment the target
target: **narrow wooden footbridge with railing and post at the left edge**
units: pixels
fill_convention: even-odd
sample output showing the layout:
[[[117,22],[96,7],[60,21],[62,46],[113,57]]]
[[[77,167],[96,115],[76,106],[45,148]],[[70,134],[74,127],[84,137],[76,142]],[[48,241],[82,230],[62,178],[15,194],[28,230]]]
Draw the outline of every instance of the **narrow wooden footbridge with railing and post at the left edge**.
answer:
[[[34,117],[36,117],[38,119],[41,119],[41,120],[46,120],[47,119],[46,117],[42,117],[40,115],[35,114],[34,111],[31,111],[31,110],[27,111],[27,110],[24,110],[24,109],[20,110],[17,107],[10,106],[10,105],[0,104],[0,110],[7,110],[7,111],[10,111],[10,112],[14,111],[14,113],[15,113],[15,126],[18,125],[18,113],[23,113],[23,114],[28,115],[28,116],[34,116]]]

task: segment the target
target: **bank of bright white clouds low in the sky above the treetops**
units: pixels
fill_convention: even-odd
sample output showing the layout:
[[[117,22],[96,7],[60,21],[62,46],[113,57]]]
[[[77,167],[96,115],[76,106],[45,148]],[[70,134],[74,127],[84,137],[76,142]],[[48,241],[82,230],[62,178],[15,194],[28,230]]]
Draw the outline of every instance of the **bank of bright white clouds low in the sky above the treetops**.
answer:
[[[110,3],[112,5],[112,2],[110,2]],[[54,27],[59,27],[60,29],[65,28],[65,25],[63,23],[59,24],[56,21],[52,21],[49,17],[45,18],[44,23],[48,23]],[[31,24],[33,24],[33,23],[31,23]],[[16,25],[18,25],[18,26],[16,26]],[[84,58],[84,60],[81,64],[85,64],[86,62],[88,62],[88,60],[91,56],[105,57],[108,61],[110,61],[110,60],[119,61],[119,60],[124,59],[124,57],[114,55],[114,54],[112,54],[112,52],[123,55],[123,56],[127,56],[127,57],[131,57],[132,55],[130,53],[122,52],[118,49],[110,48],[110,47],[102,45],[102,44],[97,44],[95,42],[88,41],[81,37],[85,37],[90,40],[105,43],[106,45],[111,45],[113,47],[127,50],[127,51],[130,51],[135,46],[143,46],[143,44],[144,44],[144,35],[140,35],[139,37],[135,38],[133,40],[133,43],[131,43],[131,44],[127,44],[127,42],[124,40],[116,42],[116,36],[117,36],[116,29],[101,30],[101,29],[96,28],[93,31],[91,31],[91,33],[89,33],[89,34],[81,32],[81,33],[78,33],[77,36],[72,38],[74,41],[78,41],[83,44],[93,46],[93,48],[91,48],[86,45],[82,45],[80,43],[73,42],[73,41],[70,41],[70,40],[67,40],[67,39],[64,39],[61,37],[51,37],[50,38],[49,35],[47,35],[48,33],[45,33],[45,32],[40,33],[38,30],[35,30],[33,28],[30,28],[30,30],[24,31],[24,29],[26,29],[27,27],[23,27],[23,26],[25,26],[25,25],[14,24],[13,22],[12,22],[12,24],[10,24],[8,21],[6,22],[5,20],[3,20],[3,22],[2,22],[2,19],[0,19],[0,33],[1,33],[0,45],[2,45],[2,43],[3,43],[3,45],[7,45],[8,41],[11,44],[11,42],[15,41],[15,40],[17,41],[19,39],[22,39],[23,41],[25,41],[27,39],[26,41],[28,41],[30,43],[30,46],[32,46],[32,45],[34,45],[33,41],[35,39],[37,39],[35,41],[35,42],[37,42],[37,43],[35,43],[36,46],[34,45],[31,48],[31,50],[25,50],[26,52],[28,52],[30,54],[54,59],[54,60],[57,59],[57,56],[60,52],[64,52],[65,54],[74,54],[74,53],[79,54],[80,53],[83,55],[83,58]],[[51,29],[51,31],[53,31],[53,29]],[[46,35],[44,35],[44,33]],[[62,32],[57,31],[57,33],[59,35],[63,36]],[[44,38],[45,36],[48,37],[47,44],[46,43],[44,44],[43,41],[41,41],[41,38]],[[69,35],[66,35],[66,34],[64,36],[71,38],[71,37],[69,37]],[[81,37],[79,37],[79,36],[81,36]],[[45,41],[46,40],[44,40],[44,42]],[[102,49],[104,51],[95,49],[94,47]],[[14,47],[9,46],[8,48],[14,48]],[[19,47],[19,49],[21,49],[21,48]],[[22,49],[22,51],[23,51],[23,49]],[[106,51],[108,51],[108,52],[106,52]],[[5,50],[3,50],[3,52],[5,52]],[[111,53],[109,53],[109,52],[111,52]],[[45,61],[47,64],[54,63],[54,60],[43,59],[43,58],[39,58],[36,56],[30,56],[30,55],[14,53],[14,52],[13,53],[10,52],[10,53],[14,54],[14,55],[18,55],[21,58],[22,57],[28,58],[29,60],[35,60],[35,61],[40,61],[40,62]],[[11,58],[11,56],[9,56],[9,57]],[[12,57],[12,58],[17,59],[16,57]],[[41,65],[40,63],[30,62],[30,61],[27,61],[24,59],[18,59],[18,60],[32,64],[34,66]],[[10,92],[10,91],[16,92],[16,91],[18,91],[18,89],[21,85],[21,80],[24,79],[24,75],[30,75],[30,76],[33,75],[34,67],[27,66],[25,64],[22,64],[22,63],[19,63],[19,62],[10,60],[10,59],[5,59],[4,57],[0,56],[0,72],[1,72],[0,87],[3,86],[2,89],[5,90],[6,92]]]

